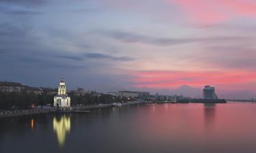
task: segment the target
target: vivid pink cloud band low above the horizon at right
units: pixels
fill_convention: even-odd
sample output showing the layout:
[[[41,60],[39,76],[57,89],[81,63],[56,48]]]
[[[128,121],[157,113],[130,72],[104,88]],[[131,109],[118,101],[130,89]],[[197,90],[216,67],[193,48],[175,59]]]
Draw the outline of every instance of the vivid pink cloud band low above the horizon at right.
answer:
[[[255,71],[136,71],[133,73],[134,87],[145,88],[177,88],[184,84],[194,87],[205,85],[221,86],[248,86],[256,82]]]

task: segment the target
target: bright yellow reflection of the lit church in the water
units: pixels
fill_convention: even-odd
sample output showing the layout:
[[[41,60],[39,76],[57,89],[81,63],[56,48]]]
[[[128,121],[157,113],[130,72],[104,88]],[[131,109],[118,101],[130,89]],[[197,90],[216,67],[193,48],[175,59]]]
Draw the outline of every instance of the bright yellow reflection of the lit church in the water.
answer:
[[[65,143],[66,134],[70,131],[70,116],[61,116],[60,120],[53,118],[53,130],[57,134],[59,146]]]

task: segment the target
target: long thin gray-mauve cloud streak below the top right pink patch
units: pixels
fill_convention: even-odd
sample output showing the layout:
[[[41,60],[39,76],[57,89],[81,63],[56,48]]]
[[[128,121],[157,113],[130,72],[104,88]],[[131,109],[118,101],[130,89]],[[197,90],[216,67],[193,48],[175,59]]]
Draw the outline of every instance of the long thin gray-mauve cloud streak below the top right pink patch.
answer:
[[[150,37],[146,35],[139,35],[136,33],[128,33],[124,31],[101,31],[97,32],[100,35],[105,35],[125,43],[142,43],[157,46],[173,46],[180,44],[191,44],[191,43],[216,43],[216,42],[227,42],[227,41],[241,41],[245,39],[252,39],[251,37],[191,37],[191,38],[165,38],[165,37]]]

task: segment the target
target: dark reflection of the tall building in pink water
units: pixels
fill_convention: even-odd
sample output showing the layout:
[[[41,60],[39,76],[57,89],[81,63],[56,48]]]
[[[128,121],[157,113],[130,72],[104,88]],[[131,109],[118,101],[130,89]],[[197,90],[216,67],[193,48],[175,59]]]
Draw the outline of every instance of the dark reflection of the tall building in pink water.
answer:
[[[204,104],[204,120],[205,120],[205,131],[212,132],[214,131],[214,122],[215,122],[215,113],[216,106],[214,103]]]

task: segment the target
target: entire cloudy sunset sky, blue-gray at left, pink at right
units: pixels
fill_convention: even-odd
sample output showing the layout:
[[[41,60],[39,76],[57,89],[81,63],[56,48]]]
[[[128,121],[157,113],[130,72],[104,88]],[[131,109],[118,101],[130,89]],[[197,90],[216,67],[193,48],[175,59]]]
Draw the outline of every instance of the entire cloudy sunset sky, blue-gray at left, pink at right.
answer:
[[[0,80],[256,98],[255,0],[0,0]]]

